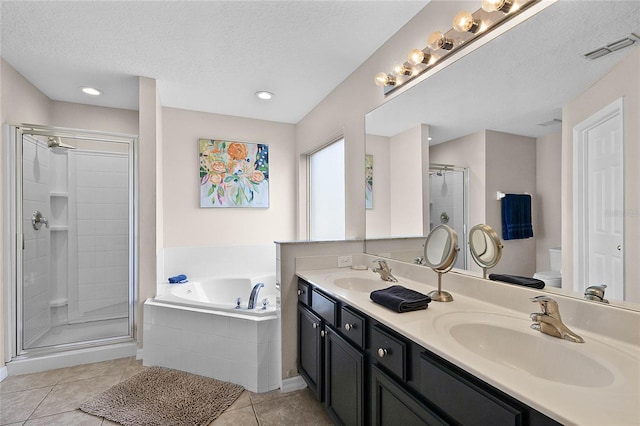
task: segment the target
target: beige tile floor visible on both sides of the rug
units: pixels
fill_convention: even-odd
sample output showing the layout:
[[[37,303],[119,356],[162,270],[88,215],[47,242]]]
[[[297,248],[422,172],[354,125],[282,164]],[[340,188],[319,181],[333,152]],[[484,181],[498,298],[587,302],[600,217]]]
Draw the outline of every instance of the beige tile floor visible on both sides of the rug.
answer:
[[[0,382],[0,425],[117,425],[78,407],[144,368],[142,361],[122,358],[7,377]],[[332,424],[320,403],[304,389],[286,394],[244,391],[211,426]]]

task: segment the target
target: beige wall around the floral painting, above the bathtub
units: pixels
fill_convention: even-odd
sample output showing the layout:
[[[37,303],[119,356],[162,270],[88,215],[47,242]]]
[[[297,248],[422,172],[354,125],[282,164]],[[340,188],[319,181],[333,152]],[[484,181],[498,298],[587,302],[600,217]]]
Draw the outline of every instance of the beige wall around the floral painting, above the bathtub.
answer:
[[[239,246],[295,239],[294,128],[292,124],[164,108],[164,247]],[[199,207],[200,138],[269,145],[268,209]]]

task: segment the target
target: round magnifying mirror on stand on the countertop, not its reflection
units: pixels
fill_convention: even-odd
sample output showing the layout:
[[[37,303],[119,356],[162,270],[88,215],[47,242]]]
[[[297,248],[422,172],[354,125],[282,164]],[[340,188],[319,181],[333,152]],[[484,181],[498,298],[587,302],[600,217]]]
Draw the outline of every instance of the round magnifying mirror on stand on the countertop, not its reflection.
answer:
[[[429,293],[431,300],[451,302],[453,296],[442,291],[442,274],[453,268],[458,256],[458,235],[447,225],[438,225],[429,233],[424,244],[424,263],[438,274],[438,290]]]

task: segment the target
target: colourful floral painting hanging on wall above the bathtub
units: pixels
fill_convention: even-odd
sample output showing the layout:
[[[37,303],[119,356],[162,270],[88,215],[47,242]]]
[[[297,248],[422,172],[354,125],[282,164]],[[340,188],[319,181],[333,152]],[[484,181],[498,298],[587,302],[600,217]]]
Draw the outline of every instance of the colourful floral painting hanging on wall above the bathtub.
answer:
[[[269,207],[269,145],[200,139],[200,207]]]

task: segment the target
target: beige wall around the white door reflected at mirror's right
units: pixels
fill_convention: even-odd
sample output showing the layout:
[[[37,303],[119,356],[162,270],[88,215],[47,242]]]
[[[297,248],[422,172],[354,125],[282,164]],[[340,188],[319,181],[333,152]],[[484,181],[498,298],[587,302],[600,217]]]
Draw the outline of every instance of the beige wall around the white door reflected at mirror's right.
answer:
[[[640,303],[640,49],[634,48],[606,76],[562,110],[562,223],[573,221],[573,128],[619,98],[624,99],[625,300]],[[573,227],[562,228],[562,281],[573,282]]]

